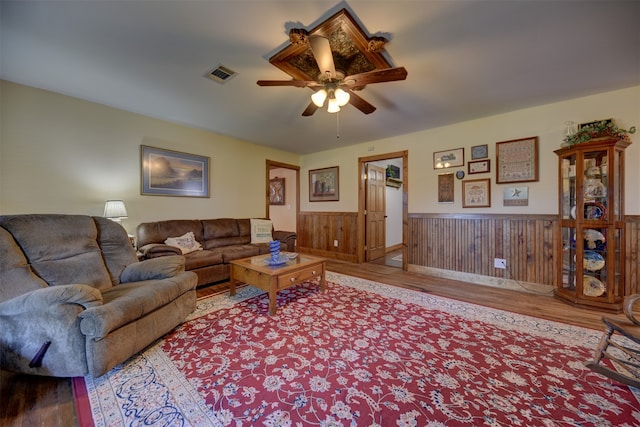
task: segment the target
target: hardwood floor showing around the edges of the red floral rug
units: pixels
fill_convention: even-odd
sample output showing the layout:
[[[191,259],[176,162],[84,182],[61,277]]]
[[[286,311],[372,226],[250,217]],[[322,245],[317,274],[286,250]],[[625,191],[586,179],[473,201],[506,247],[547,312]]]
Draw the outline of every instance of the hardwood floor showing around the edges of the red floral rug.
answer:
[[[405,272],[397,267],[400,265],[398,261],[391,259],[396,255],[397,253],[390,253],[385,259],[368,264],[328,260],[327,269],[393,286],[597,330],[603,329],[600,321],[603,315],[625,322],[622,314],[574,307],[550,295],[527,294]],[[228,283],[201,288],[198,289],[198,296],[225,289],[228,289]],[[71,380],[31,377],[0,371],[0,425],[78,425]]]

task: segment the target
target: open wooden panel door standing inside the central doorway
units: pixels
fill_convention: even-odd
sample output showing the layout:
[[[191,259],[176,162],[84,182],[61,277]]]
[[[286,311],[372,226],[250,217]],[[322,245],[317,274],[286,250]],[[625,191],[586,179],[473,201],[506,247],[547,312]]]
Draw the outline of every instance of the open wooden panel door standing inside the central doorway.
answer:
[[[380,166],[365,166],[367,185],[365,192],[366,261],[381,258],[386,253],[386,201],[385,170]]]

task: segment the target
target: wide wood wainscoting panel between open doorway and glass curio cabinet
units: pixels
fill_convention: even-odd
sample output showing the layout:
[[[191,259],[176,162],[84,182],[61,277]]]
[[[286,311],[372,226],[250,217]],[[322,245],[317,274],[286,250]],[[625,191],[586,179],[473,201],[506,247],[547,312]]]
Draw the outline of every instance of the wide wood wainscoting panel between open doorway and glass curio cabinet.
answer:
[[[553,286],[556,223],[556,215],[410,214],[407,262]]]

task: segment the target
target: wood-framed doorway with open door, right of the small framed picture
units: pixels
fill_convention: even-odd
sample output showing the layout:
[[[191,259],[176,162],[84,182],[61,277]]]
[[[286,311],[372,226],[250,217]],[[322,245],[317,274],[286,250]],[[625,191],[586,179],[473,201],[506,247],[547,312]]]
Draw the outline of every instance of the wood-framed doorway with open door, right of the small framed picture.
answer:
[[[407,270],[408,156],[399,151],[358,159],[358,262]]]

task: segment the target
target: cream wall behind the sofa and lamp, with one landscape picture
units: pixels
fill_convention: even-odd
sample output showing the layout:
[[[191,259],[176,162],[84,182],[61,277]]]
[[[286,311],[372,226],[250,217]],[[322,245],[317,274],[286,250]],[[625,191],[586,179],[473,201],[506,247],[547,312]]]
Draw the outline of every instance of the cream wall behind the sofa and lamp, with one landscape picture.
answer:
[[[265,159],[295,154],[92,102],[0,82],[0,214],[102,215],[123,199],[140,222],[264,217]],[[140,195],[140,145],[210,157],[210,198]]]

